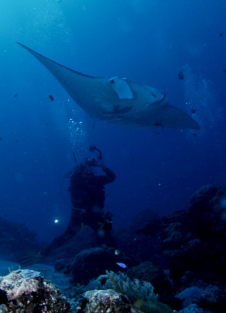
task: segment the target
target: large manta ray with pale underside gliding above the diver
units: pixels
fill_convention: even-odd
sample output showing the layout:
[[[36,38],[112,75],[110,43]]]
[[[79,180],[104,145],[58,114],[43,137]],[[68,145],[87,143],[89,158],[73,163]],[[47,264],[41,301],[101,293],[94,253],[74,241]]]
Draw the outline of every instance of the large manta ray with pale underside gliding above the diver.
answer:
[[[130,128],[200,129],[191,116],[168,105],[168,96],[157,89],[124,77],[85,75],[18,44],[33,54],[93,119]]]

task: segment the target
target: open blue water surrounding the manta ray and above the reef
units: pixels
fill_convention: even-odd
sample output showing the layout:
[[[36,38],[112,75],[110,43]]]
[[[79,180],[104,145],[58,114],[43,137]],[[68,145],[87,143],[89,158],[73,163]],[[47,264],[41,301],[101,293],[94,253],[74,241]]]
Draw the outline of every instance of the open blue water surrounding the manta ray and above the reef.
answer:
[[[61,181],[76,165],[72,152],[78,162],[95,154],[90,144],[117,176],[105,206],[116,230],[144,208],[165,215],[186,208],[202,185],[224,184],[225,12],[223,0],[1,0],[0,216],[41,241],[61,234],[70,218]],[[88,75],[153,86],[188,114],[195,109],[201,130],[93,127],[16,41]]]

